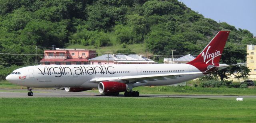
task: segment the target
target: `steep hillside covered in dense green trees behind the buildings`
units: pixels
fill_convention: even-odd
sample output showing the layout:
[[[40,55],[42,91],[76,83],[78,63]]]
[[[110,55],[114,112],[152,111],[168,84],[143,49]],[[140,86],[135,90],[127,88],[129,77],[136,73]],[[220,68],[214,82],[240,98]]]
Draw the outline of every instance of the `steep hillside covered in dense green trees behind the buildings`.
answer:
[[[204,18],[178,0],[0,0],[0,76],[30,65],[51,45],[89,47],[113,53],[198,55],[220,30],[230,30],[228,48],[256,44],[252,33]],[[85,48],[86,48],[85,47]],[[132,51],[132,52],[130,52]],[[32,55],[31,55],[32,54]],[[42,58],[42,56],[39,56]],[[159,60],[158,56],[154,57]],[[39,60],[38,60],[39,61]],[[14,66],[18,65],[18,66]],[[10,69],[6,69],[10,67]]]

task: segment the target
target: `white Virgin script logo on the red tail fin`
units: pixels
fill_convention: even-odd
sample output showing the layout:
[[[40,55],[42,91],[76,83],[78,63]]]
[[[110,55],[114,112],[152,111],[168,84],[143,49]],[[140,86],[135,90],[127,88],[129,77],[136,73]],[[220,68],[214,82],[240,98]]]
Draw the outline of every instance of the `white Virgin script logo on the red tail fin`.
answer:
[[[212,61],[212,64],[213,61],[214,61],[214,58],[215,57],[218,57],[221,55],[220,51],[215,51],[214,53],[208,53],[209,49],[211,48],[211,46],[208,47],[208,49],[206,50],[206,53],[202,53],[202,57],[204,58],[204,62],[207,64],[208,62]],[[206,61],[207,60],[207,61]]]

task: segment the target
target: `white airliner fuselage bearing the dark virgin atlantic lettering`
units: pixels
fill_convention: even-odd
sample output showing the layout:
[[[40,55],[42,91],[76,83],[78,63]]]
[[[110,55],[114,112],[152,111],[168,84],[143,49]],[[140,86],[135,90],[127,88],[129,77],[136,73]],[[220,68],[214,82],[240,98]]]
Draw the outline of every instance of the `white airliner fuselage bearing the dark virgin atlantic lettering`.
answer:
[[[38,65],[14,70],[20,74],[10,74],[10,82],[27,87],[82,87],[98,88],[93,78],[134,76],[146,74],[166,74],[200,72],[190,64],[102,64],[102,65]],[[177,75],[166,80],[146,80],[144,86],[176,84],[204,76],[204,74]]]

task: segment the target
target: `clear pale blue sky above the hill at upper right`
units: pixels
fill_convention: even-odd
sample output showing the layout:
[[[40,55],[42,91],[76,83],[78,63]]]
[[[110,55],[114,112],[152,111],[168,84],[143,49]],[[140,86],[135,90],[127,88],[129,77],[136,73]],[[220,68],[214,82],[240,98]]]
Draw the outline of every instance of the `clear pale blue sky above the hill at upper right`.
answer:
[[[256,36],[256,0],[179,0],[205,18],[247,29]]]

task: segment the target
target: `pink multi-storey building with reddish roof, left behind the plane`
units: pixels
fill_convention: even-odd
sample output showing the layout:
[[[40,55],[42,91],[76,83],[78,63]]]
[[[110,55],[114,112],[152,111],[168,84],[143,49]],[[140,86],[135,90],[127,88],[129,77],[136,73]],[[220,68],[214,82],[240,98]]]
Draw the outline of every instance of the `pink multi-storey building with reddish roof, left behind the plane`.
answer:
[[[58,49],[45,50],[42,65],[70,65],[70,64],[89,64],[88,59],[96,57],[96,51],[86,49]]]

